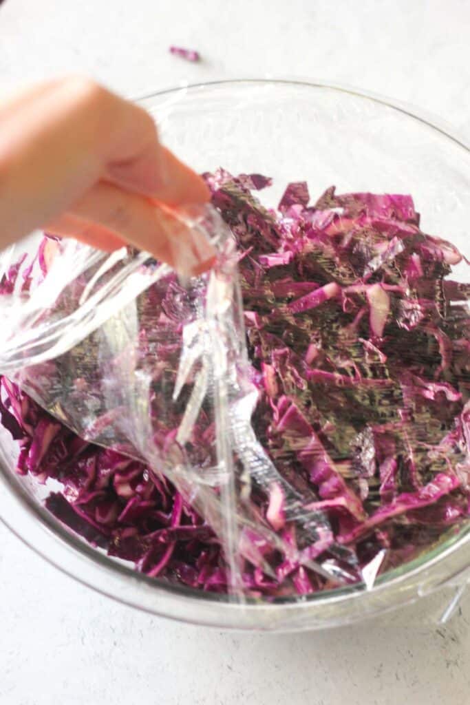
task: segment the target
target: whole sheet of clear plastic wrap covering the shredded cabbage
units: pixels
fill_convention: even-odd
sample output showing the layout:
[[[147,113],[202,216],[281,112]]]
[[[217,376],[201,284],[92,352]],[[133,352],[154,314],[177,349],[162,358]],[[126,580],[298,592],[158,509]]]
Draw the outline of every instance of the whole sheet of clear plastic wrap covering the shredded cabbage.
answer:
[[[233,179],[223,171],[208,179],[224,220],[211,207],[186,219],[218,250],[214,268],[198,278],[182,280],[149,255],[125,248],[104,255],[45,238],[35,257],[19,259],[13,248],[1,280],[8,332],[0,371],[81,439],[144,462],[157,484],[161,478],[171,482],[176,499],[168,530],[176,536],[184,529],[182,506],[202,517],[198,535],[206,529],[209,542],[213,536],[221,546],[212,584],[233,599],[352,583],[372,589],[384,568],[426,545],[421,525],[432,525],[437,537],[468,512],[464,494],[439,505],[440,498],[468,487],[466,448],[459,440],[467,407],[455,407],[457,438],[435,426],[426,431],[435,418],[415,403],[415,396],[461,403],[462,393],[447,381],[425,381],[415,370],[400,382],[390,379],[381,350],[394,293],[393,316],[404,328],[416,325],[416,312],[400,309],[408,289],[388,281],[397,276],[390,263],[406,250],[405,238],[424,238],[423,252],[444,262],[440,277],[445,258],[458,253],[419,231],[409,197],[337,197],[328,190],[309,209],[307,186],[297,183],[287,188],[277,221],[249,195],[268,179]],[[358,204],[372,216],[358,212]],[[352,249],[348,217],[357,219],[355,226],[376,228],[375,254]],[[345,235],[344,245],[336,245],[338,233]],[[359,280],[330,243],[338,252],[352,243],[351,261],[364,269]],[[329,277],[327,283],[311,281],[306,252],[315,248],[316,274]],[[406,257],[412,281],[421,265],[419,257]],[[382,281],[374,278],[381,268]],[[263,280],[264,270],[277,273]],[[462,300],[463,290],[456,292],[451,298]],[[330,305],[328,315],[341,321],[337,326],[326,319],[335,330],[334,350],[328,330],[315,329],[307,321],[311,314],[305,315],[321,305]],[[455,311],[462,317],[463,304]],[[356,332],[362,319],[370,329],[366,338]],[[317,322],[324,326],[325,319]],[[340,338],[334,326],[350,337]],[[429,335],[438,340],[444,362],[445,335]],[[464,372],[459,382],[465,389]],[[10,406],[14,396],[8,393]],[[407,429],[417,429],[418,436],[409,439]],[[416,448],[429,466],[422,477]],[[447,451],[454,454],[451,472],[445,472]],[[407,484],[397,479],[396,458],[409,490],[399,491]],[[409,537],[405,530],[391,546],[381,527],[395,517],[411,528]],[[122,539],[125,529],[119,531]],[[368,542],[371,531],[375,540]],[[174,544],[151,562],[147,556],[142,570],[160,575]]]

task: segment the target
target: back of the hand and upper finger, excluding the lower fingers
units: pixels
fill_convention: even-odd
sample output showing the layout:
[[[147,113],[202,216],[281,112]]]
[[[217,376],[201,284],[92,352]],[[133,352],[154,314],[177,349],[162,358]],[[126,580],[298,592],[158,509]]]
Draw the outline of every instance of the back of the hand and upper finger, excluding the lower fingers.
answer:
[[[159,145],[151,117],[93,82],[38,87],[1,111],[0,128],[1,245],[53,221],[102,178],[171,206],[209,198]]]

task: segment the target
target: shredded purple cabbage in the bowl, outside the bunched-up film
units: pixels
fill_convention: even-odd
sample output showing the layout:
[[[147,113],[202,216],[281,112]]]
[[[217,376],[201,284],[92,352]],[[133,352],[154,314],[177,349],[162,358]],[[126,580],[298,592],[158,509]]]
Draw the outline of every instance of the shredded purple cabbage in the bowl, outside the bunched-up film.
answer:
[[[305,510],[328,518],[314,558],[333,566],[344,546],[350,582],[377,556],[387,572],[470,513],[470,285],[449,278],[462,255],[421,231],[409,195],[331,187],[309,205],[299,182],[275,211],[254,195],[269,178],[204,176],[240,252],[255,434]],[[18,472],[61,482],[46,505],[70,529],[151,577],[227,591],[216,535],[167,479],[83,441],[5,376],[0,413]],[[297,546],[280,486],[251,501]],[[334,587],[283,556],[273,575],[245,560],[242,577],[252,596]]]

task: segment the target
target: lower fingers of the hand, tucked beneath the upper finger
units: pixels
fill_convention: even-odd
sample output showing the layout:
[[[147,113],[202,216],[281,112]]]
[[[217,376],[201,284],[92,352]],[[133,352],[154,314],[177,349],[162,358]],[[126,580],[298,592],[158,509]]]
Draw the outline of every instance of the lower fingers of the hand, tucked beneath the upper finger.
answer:
[[[122,241],[135,245],[170,264],[182,274],[194,276],[214,262],[214,248],[149,199],[100,182],[70,206],[66,218],[48,223],[57,235],[72,235],[112,250]]]

